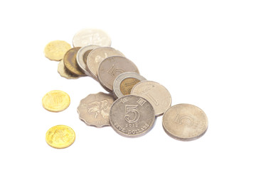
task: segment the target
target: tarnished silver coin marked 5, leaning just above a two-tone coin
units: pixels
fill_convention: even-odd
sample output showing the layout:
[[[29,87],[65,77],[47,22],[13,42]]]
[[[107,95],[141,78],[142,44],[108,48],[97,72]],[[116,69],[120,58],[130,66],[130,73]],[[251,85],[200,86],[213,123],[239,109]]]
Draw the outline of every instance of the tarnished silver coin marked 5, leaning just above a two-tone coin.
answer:
[[[113,91],[114,79],[124,72],[136,72],[139,74],[139,70],[132,61],[126,57],[113,56],[105,58],[100,63],[97,75],[104,89]]]

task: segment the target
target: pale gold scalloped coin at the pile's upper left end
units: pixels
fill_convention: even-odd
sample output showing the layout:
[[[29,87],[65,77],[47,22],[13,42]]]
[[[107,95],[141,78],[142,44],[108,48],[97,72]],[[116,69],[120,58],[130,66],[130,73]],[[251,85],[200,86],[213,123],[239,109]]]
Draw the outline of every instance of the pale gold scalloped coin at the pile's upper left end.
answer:
[[[68,42],[63,40],[51,41],[43,50],[46,57],[50,60],[60,61],[63,59],[65,53],[70,50],[71,46]]]

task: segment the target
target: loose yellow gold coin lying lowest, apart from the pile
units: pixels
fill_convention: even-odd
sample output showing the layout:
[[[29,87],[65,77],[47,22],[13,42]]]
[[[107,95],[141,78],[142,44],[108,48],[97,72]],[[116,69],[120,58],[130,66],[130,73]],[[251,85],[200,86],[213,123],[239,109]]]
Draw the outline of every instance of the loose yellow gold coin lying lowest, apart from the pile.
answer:
[[[75,132],[66,125],[56,125],[46,132],[46,142],[51,147],[62,149],[75,142]]]

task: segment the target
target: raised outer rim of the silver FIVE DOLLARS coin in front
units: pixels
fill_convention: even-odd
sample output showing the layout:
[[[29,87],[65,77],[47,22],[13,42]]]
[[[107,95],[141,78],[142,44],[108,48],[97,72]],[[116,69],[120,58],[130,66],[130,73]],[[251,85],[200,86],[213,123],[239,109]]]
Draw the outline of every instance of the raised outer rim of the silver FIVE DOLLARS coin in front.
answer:
[[[112,111],[112,108],[114,107],[114,104],[117,103],[117,101],[121,100],[121,98],[125,98],[125,97],[127,97],[127,96],[137,96],[137,95],[129,94],[129,95],[126,95],[126,96],[122,96],[122,97],[120,97],[120,98],[117,98],[117,100],[115,100],[114,103],[112,103],[112,106],[111,106],[111,108],[110,108],[110,126],[112,127],[112,129],[113,129],[115,132],[117,132],[119,135],[121,135],[121,136],[123,136],[123,137],[131,137],[131,138],[134,138],[134,137],[142,137],[142,136],[146,135],[146,134],[154,127],[154,125],[155,125],[155,123],[156,123],[156,116],[155,116],[154,114],[153,114],[153,116],[152,116],[152,118],[153,118],[154,120],[153,120],[153,122],[151,123],[151,125],[149,125],[149,128],[146,129],[146,130],[144,130],[144,131],[141,132],[141,133],[136,134],[136,135],[128,135],[128,134],[126,134],[126,133],[123,133],[123,132],[119,131],[117,128],[115,128],[115,126],[112,124],[112,120],[111,120],[111,111]],[[137,96],[137,97],[143,98],[143,97],[141,97],[141,96]],[[144,99],[145,101],[149,102],[148,100],[146,100],[146,98],[143,98],[143,99]],[[153,109],[153,111],[154,111],[154,108],[153,108],[153,106],[151,105],[150,102],[149,102],[149,106],[151,106],[152,109]]]

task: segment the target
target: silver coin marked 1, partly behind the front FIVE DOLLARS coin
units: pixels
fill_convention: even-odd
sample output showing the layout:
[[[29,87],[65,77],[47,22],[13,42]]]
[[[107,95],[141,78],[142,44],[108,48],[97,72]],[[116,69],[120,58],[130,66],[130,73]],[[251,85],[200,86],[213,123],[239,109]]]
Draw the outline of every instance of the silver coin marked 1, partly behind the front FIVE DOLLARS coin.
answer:
[[[156,115],[163,114],[171,106],[169,91],[154,81],[139,82],[132,88],[131,94],[146,98],[153,106]]]

